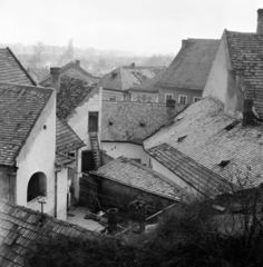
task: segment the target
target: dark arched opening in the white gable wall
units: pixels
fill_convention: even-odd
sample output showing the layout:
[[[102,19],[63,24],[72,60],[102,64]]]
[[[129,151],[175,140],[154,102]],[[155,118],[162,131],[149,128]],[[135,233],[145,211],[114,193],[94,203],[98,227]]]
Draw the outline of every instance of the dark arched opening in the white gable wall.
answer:
[[[28,182],[28,202],[39,196],[47,195],[47,176],[43,172],[35,172]]]

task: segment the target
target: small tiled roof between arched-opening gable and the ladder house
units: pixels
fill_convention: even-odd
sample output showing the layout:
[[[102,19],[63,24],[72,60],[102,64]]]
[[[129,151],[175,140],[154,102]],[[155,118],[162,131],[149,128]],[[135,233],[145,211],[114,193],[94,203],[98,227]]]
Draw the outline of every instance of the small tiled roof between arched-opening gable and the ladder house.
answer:
[[[56,119],[56,164],[65,165],[75,160],[67,154],[78,148],[85,147],[82,140],[71,129],[71,127],[58,117]]]

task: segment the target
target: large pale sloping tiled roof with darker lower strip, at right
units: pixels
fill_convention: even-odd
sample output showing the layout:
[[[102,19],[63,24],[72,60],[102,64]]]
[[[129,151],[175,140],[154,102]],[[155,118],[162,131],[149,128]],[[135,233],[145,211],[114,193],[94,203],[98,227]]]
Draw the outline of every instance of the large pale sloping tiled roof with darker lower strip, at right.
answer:
[[[213,186],[201,184],[202,179],[211,184],[218,180],[218,187],[227,180],[252,188],[263,181],[262,129],[261,125],[242,127],[224,113],[221,102],[205,98],[179,113],[174,125],[146,139],[144,146],[182,179],[198,184],[203,192]],[[181,165],[175,162],[177,158]]]

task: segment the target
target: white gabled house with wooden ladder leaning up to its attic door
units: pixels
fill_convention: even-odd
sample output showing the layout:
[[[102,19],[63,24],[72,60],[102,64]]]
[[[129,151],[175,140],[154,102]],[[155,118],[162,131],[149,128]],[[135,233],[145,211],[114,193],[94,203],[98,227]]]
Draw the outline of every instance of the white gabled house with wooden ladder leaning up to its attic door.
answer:
[[[69,151],[76,159],[76,176],[72,180],[74,197],[79,199],[79,179],[101,166],[100,125],[101,125],[101,88],[94,87],[86,78],[72,75],[60,77],[59,68],[53,77],[57,88],[57,116],[70,126],[84,144],[77,151]],[[65,136],[66,137],[66,136]],[[80,145],[80,142],[78,141]]]

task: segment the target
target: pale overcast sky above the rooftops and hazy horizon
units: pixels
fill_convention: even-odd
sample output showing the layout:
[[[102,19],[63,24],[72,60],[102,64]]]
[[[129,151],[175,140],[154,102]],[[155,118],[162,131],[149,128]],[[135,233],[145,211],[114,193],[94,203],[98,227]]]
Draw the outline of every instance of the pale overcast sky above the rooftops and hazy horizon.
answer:
[[[263,0],[0,0],[0,42],[176,53],[182,39],[254,32]]]

